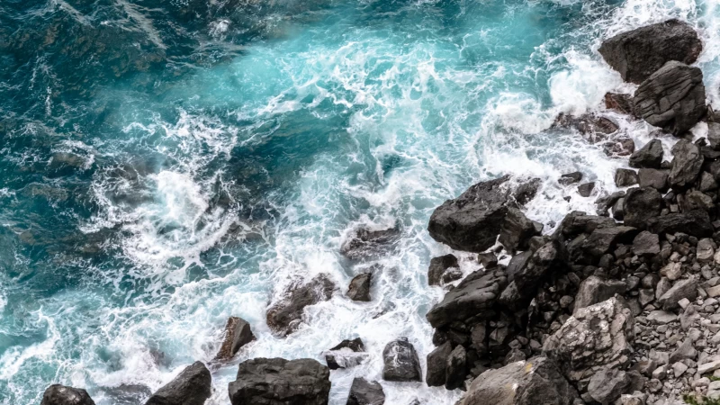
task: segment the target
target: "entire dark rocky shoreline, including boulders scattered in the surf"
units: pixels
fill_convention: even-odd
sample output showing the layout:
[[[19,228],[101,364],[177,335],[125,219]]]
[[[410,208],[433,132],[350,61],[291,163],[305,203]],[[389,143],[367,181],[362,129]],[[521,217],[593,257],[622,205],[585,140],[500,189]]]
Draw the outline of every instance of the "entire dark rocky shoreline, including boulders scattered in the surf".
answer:
[[[635,150],[617,123],[598,113],[558,117],[556,128],[577,130],[608,155],[628,159],[631,168],[615,176],[626,190],[600,194],[596,212],[573,211],[544,233],[550,224],[523,211],[540,181],[508,175],[474,184],[437,207],[430,236],[477,254],[479,269],[455,285],[463,277],[457,257],[431,260],[428,283],[447,290],[427,315],[436,348],[417,353],[404,337],[388,343],[384,381],[461,389],[459,405],[720,401],[720,123],[707,106],[702,71],[690,66],[701,50],[698,34],[677,20],[603,42],[600,55],[626,82],[639,85],[633,95],[608,94],[608,109],[679,140],[668,157],[658,139]],[[707,122],[707,136],[693,139],[689,130],[700,121]],[[558,184],[590,197],[595,184],[582,178],[571,173]],[[395,228],[356,229],[341,253],[362,259],[399,237]],[[497,256],[503,251],[512,255],[507,266]],[[348,298],[371,301],[372,280],[372,268],[357,275]],[[278,337],[293,333],[304,309],[336,290],[324,275],[293,285],[268,309],[268,327]],[[230,318],[210,367],[254,339],[247,321]],[[331,370],[361,364],[368,354],[356,338],[324,356],[327,365],[313,359],[242,362],[229,383],[229,401],[328,404]],[[426,370],[420,356],[427,356]],[[211,371],[196,362],[146,405],[201,405],[210,396]],[[352,383],[347,404],[384,402],[382,383],[360,377]],[[70,404],[94,401],[85,390],[56,384],[41,402]]]

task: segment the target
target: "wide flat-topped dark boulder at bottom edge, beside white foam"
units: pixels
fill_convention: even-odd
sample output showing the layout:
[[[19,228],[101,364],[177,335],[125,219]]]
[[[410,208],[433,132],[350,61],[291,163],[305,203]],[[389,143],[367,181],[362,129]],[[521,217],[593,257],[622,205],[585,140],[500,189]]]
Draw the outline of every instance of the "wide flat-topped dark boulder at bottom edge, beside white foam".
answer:
[[[232,405],[328,405],[330,371],[315,360],[254,358],[228,384]]]

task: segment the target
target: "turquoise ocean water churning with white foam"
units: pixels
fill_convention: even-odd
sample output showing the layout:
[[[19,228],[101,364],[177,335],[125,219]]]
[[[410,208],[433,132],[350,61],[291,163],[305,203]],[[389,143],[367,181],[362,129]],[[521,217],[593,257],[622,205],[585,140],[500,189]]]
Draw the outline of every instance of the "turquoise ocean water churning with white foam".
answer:
[[[527,215],[545,231],[594,211],[626,159],[559,112],[601,111],[634,91],[599,57],[603,38],[678,17],[706,44],[720,85],[716,0],[4,0],[0,3],[0,403],[36,404],[50,383],[98,405],[137,404],[195,360],[229,316],[257,341],[214,369],[229,404],[239,362],[311,357],[363,338],[382,380],[386,343],[432,350],[425,313],[432,210],[474,182],[540,177]],[[652,128],[608,112],[637,148]],[[706,128],[694,130],[701,135]],[[673,139],[663,139],[670,148]],[[580,170],[581,198],[556,183]],[[570,195],[570,201],[563,197]],[[366,260],[351,229],[397,225]],[[465,273],[479,268],[458,254]],[[373,267],[373,302],[345,298]],[[329,302],[276,338],[268,305],[327,274]],[[382,382],[387,403],[454,404],[461,392]]]

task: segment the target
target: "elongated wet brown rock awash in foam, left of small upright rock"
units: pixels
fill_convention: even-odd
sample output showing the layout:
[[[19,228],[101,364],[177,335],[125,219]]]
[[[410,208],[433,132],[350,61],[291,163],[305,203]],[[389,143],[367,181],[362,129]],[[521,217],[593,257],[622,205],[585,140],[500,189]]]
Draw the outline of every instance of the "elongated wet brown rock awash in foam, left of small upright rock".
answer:
[[[307,284],[294,285],[281,301],[267,310],[267,326],[280,336],[293,333],[300,326],[305,307],[328,301],[334,289],[327,275],[317,275]]]

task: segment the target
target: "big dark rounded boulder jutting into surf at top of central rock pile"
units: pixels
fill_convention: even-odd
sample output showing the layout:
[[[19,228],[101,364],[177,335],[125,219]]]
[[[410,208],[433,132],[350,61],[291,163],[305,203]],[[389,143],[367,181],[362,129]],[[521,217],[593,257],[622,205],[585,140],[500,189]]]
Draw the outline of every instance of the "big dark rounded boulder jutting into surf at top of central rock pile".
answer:
[[[514,188],[509,176],[474,184],[433,211],[430,236],[456,250],[480,253],[495,244],[508,208],[535,195],[538,182]]]

